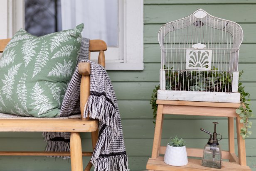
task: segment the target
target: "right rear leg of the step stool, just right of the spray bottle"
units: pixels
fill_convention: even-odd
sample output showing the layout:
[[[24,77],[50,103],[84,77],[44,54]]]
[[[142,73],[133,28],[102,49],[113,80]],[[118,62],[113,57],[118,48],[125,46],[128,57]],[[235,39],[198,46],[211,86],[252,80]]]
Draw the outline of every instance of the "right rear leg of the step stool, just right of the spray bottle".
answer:
[[[234,136],[234,117],[228,117],[228,131],[229,131],[229,161],[236,162],[233,158],[235,154],[235,136]]]

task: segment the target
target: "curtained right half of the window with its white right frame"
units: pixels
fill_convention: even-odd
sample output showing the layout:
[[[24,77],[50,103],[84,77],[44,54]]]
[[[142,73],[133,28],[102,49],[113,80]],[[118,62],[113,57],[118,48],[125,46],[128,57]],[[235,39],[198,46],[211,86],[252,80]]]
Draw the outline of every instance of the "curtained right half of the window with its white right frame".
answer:
[[[107,70],[143,70],[143,0],[62,0],[62,29],[84,23],[83,37],[103,39]],[[97,54],[91,54],[97,60]]]

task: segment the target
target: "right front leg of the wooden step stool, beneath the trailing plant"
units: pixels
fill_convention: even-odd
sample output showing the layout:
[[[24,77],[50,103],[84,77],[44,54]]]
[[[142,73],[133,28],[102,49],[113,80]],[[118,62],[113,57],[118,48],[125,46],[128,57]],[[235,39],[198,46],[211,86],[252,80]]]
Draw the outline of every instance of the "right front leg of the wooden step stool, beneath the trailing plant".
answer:
[[[241,166],[246,166],[246,151],[245,151],[245,141],[240,135],[240,129],[244,126],[240,123],[241,117],[237,115],[236,117],[236,134],[237,134],[237,146],[238,146],[238,159]]]

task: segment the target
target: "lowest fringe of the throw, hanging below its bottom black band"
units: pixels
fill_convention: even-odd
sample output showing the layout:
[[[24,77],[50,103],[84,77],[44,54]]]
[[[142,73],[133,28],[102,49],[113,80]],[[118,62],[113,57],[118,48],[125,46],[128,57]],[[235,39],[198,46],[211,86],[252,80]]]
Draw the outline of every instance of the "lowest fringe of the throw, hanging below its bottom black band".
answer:
[[[95,163],[94,171],[129,171],[127,154],[99,157]]]

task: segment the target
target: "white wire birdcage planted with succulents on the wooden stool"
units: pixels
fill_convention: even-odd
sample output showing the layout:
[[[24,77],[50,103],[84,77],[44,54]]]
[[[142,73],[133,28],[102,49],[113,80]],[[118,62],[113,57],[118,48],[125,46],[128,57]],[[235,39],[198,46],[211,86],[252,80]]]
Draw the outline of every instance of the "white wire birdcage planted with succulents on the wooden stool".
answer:
[[[241,26],[202,9],[164,24],[158,100],[239,103]]]

